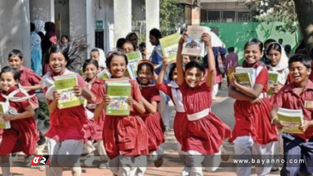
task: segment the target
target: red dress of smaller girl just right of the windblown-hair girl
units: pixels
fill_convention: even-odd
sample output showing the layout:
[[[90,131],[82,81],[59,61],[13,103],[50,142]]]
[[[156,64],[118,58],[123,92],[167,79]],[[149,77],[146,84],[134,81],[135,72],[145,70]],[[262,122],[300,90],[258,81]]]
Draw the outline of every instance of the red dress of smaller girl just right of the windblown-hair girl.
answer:
[[[90,104],[90,102],[87,102],[86,109],[88,109],[89,111],[91,111],[93,113],[95,111],[96,106],[102,102],[103,97],[105,96],[105,83],[104,83],[104,81],[100,80],[99,78],[96,78],[95,81],[91,84],[90,90],[94,94],[94,96],[96,97],[96,103]],[[105,111],[104,110],[102,110],[102,113],[97,120],[95,118],[90,119],[92,126],[95,129],[95,132],[89,138],[90,140],[102,139],[104,119],[105,119]]]

